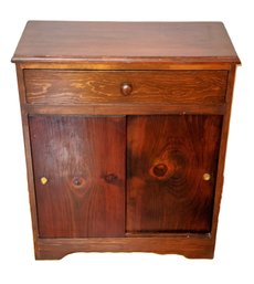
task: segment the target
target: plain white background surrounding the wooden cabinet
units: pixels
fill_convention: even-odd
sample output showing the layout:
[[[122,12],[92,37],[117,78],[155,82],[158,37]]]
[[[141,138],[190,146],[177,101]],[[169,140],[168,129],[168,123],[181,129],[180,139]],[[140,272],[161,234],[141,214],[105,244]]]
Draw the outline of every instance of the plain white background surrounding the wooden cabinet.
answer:
[[[253,10],[250,0],[21,0],[0,3],[0,283],[254,283]],[[34,261],[14,65],[28,20],[223,21],[237,69],[214,260],[78,253]]]

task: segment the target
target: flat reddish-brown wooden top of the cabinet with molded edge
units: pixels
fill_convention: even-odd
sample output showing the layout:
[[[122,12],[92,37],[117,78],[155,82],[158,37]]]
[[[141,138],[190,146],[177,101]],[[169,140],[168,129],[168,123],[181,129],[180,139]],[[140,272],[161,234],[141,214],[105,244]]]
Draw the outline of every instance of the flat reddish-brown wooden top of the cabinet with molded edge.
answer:
[[[12,61],[240,63],[221,22],[29,21]]]

